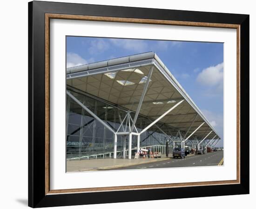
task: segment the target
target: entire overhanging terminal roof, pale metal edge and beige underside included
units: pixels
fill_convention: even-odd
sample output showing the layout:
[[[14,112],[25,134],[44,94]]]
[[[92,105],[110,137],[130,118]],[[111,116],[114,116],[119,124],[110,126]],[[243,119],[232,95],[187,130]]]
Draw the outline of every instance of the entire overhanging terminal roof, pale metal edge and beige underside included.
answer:
[[[154,70],[140,114],[157,119],[177,102],[185,99],[160,121],[185,132],[195,131],[205,122],[194,135],[202,138],[212,131],[209,138],[215,135],[221,138],[155,52],[67,68],[67,85],[136,111],[152,66]]]

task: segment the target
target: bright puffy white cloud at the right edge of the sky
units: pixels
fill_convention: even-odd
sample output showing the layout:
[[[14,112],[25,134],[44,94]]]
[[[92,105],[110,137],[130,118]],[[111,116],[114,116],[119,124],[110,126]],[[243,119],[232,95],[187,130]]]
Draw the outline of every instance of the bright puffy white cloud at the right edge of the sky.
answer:
[[[196,81],[206,86],[216,86],[223,84],[223,62],[216,65],[205,68],[200,72],[196,78]]]

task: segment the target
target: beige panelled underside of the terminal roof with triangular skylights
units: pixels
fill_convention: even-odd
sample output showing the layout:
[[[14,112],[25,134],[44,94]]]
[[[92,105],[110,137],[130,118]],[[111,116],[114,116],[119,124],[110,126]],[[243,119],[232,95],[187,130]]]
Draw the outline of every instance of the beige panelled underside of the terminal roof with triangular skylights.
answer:
[[[219,137],[167,70],[154,58],[79,72],[72,72],[71,68],[67,73],[67,89],[85,92],[107,102],[108,107],[102,103],[106,106],[102,108],[108,108],[109,111],[112,107],[130,111],[132,119],[138,110],[140,118],[147,118],[144,123],[141,120],[135,122],[135,127],[141,130],[176,105],[156,125],[150,127],[150,130],[157,130],[161,126],[162,131],[170,137],[175,137],[178,131],[183,137],[188,137],[197,129],[193,134],[197,139],[206,137],[210,131],[208,138],[216,135]],[[143,92],[145,95],[140,106]],[[181,103],[178,104],[179,102]],[[124,114],[121,117],[123,119]]]

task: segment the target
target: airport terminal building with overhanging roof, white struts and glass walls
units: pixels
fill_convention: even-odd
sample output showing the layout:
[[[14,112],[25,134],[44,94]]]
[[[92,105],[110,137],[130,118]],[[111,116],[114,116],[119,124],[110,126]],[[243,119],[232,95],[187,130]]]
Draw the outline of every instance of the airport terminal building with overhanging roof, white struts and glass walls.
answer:
[[[154,52],[67,68],[67,159],[141,148],[206,149],[221,140]]]

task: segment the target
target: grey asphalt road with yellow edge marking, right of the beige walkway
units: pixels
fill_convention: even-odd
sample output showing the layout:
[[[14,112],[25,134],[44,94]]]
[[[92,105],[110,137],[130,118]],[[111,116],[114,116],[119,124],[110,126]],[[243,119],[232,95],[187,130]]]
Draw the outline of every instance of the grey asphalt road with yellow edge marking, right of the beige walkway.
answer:
[[[187,156],[185,159],[170,158],[160,162],[143,163],[139,165],[131,165],[131,166],[113,168],[108,170],[175,168],[175,167],[212,166],[212,165],[216,166],[222,161],[222,158],[223,158],[223,150],[217,151],[217,152],[210,152],[205,155]]]

